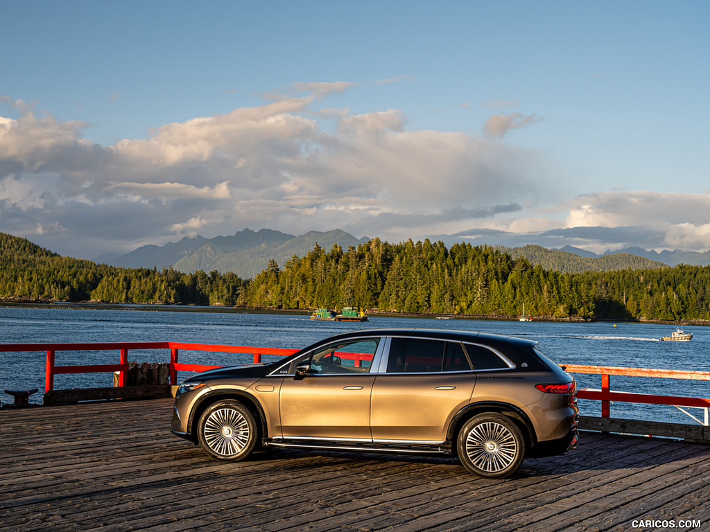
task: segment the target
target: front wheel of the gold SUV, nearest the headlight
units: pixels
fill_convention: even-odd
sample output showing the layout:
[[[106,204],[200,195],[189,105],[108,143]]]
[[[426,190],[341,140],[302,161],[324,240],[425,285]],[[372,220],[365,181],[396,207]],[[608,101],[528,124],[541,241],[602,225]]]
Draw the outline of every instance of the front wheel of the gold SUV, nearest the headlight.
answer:
[[[234,399],[209,405],[197,423],[202,449],[218,460],[244,460],[254,450],[257,436],[258,425],[251,410]]]

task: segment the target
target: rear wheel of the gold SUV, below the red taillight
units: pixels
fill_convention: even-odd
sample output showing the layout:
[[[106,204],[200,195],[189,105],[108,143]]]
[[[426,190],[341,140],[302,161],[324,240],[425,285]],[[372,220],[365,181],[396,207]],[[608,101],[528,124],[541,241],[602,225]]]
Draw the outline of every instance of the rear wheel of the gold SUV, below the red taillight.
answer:
[[[478,414],[461,427],[457,451],[461,463],[474,475],[505,478],[523,462],[525,439],[515,422],[503,414]]]

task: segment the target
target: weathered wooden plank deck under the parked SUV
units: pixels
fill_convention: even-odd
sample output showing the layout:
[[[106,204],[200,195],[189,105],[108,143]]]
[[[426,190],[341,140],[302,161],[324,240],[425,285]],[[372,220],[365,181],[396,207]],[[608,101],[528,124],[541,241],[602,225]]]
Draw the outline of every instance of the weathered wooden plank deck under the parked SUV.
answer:
[[[172,399],[0,411],[0,531],[710,529],[710,446],[583,433],[567,456],[483,480],[449,459],[312,451],[209,460]]]

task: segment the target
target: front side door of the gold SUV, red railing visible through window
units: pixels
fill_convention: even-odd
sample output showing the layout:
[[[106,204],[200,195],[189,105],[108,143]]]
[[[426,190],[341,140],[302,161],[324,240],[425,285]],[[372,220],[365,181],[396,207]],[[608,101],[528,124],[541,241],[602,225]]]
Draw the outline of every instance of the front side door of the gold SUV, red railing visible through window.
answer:
[[[341,340],[295,360],[280,388],[283,438],[371,441],[370,370],[379,344],[380,338]]]

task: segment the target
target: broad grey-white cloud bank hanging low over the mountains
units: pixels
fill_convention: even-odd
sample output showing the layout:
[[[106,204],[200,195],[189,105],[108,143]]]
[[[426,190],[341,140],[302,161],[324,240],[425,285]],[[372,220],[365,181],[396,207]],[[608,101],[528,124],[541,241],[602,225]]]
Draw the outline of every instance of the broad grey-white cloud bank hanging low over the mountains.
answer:
[[[491,116],[476,138],[408,131],[398,109],[318,108],[354,87],[297,83],[261,106],[108,146],[84,138],[86,123],[38,118],[33,105],[1,98],[0,111],[16,118],[0,116],[0,231],[82,257],[245,227],[601,251],[710,248],[708,194],[559,196],[564,169],[503,142],[534,127],[537,114]]]

